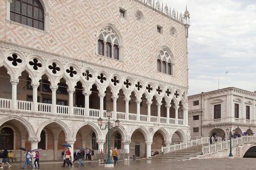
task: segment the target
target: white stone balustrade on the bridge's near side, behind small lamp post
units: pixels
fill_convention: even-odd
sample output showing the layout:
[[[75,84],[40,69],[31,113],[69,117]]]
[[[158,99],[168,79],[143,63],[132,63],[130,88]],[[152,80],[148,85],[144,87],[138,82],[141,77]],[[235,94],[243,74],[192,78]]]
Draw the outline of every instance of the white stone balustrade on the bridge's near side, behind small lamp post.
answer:
[[[237,145],[241,145],[244,143],[254,143],[256,142],[256,136],[242,136],[240,138],[232,139],[232,147]],[[205,155],[207,153],[216,152],[219,150],[229,149],[230,148],[230,140],[217,142],[215,144],[209,144],[208,146],[202,146],[202,154]]]

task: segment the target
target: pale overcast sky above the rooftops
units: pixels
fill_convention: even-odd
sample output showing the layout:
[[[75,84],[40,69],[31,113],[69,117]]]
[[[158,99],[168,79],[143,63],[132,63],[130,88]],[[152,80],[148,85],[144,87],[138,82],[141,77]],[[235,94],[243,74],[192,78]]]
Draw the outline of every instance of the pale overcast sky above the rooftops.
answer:
[[[218,77],[219,88],[256,90],[256,0],[159,2],[179,14],[188,6],[189,95],[217,90]]]

